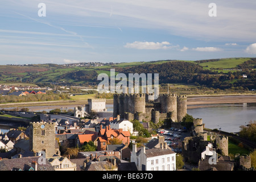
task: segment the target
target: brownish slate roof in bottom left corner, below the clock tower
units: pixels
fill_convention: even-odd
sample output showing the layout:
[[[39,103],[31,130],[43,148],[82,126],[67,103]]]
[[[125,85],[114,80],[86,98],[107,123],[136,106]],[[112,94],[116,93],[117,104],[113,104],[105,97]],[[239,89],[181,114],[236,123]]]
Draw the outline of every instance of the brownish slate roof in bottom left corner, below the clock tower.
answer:
[[[26,171],[31,168],[33,161],[38,161],[39,156],[17,159],[0,160],[0,171],[19,170]],[[54,168],[46,160],[46,164],[38,164],[38,171],[54,171]]]

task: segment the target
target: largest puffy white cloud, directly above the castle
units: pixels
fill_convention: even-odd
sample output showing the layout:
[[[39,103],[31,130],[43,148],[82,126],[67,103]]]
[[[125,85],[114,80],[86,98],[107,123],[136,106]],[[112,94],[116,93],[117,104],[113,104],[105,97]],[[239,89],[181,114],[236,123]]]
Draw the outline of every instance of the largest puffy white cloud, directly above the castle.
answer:
[[[134,49],[171,49],[179,46],[169,46],[169,42],[139,42],[135,41],[133,43],[126,43],[125,48],[134,48]]]

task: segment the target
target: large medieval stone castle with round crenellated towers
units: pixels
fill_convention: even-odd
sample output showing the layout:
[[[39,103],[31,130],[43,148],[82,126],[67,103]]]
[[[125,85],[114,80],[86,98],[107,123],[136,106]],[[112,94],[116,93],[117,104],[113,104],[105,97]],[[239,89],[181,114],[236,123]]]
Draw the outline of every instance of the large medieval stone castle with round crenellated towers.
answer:
[[[150,94],[114,94],[113,116],[158,123],[159,119],[169,118],[172,122],[180,122],[187,114],[187,96],[159,94],[156,100],[148,96]]]

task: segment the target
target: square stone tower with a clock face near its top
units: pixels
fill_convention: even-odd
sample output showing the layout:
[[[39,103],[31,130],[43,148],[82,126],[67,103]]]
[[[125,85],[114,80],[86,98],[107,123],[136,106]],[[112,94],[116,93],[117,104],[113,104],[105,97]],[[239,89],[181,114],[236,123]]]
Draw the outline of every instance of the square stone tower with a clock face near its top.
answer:
[[[55,123],[31,122],[30,123],[30,151],[46,152],[46,157],[55,154]]]

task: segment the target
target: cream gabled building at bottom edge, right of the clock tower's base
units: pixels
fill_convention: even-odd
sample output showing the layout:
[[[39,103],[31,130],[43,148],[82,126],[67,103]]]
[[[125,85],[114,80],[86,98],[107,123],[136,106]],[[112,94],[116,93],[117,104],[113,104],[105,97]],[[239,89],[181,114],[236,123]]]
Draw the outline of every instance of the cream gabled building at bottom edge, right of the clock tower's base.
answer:
[[[55,171],[76,171],[76,164],[72,163],[67,157],[56,156],[48,158],[48,161]]]

